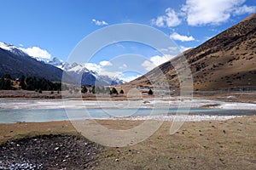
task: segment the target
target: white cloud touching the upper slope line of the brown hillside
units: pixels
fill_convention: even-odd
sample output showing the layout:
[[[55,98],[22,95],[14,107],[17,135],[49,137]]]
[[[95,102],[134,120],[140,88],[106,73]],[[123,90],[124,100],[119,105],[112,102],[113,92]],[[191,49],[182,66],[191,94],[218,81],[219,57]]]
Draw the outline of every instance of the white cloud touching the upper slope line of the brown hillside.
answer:
[[[154,69],[154,67],[161,65],[172,58],[172,55],[164,55],[162,57],[159,55],[155,55],[149,60],[145,60],[142,66],[145,68],[146,71],[151,71],[152,69]]]

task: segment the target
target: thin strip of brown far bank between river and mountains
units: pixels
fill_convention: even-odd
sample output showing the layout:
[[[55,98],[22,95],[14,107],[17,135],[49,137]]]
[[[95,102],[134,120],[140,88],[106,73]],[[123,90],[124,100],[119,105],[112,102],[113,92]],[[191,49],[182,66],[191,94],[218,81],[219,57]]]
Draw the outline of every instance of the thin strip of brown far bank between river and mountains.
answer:
[[[34,91],[26,90],[0,90],[0,99],[61,99],[61,98],[77,98],[84,100],[134,100],[134,98],[126,98],[125,94],[119,95],[101,95],[101,94],[70,94],[68,91],[57,92],[43,91],[42,94]],[[170,97],[176,97],[179,94],[171,94]],[[216,99],[224,101],[251,102],[256,103],[256,91],[238,92],[238,91],[195,91],[193,96],[201,99]],[[154,99],[154,95],[142,95],[142,99]],[[158,98],[158,97],[156,97]]]

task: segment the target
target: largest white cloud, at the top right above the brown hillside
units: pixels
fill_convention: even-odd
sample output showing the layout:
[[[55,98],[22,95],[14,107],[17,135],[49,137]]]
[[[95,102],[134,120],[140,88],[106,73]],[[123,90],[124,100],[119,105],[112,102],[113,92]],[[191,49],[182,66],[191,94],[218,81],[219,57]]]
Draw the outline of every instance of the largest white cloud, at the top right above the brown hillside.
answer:
[[[242,3],[245,0],[187,0],[182,10],[189,26],[219,25],[229,20],[232,14],[255,11],[255,7],[240,7]]]

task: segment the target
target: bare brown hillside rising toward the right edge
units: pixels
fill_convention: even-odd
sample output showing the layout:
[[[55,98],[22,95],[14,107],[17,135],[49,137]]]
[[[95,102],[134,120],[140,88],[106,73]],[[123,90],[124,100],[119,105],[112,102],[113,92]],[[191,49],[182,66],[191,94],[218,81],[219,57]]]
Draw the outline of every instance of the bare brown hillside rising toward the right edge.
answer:
[[[189,62],[195,90],[256,89],[256,14],[183,54]],[[160,77],[160,69],[171,88],[179,88],[180,81],[172,66],[178,59],[154,68],[129,84],[160,84],[164,78]]]

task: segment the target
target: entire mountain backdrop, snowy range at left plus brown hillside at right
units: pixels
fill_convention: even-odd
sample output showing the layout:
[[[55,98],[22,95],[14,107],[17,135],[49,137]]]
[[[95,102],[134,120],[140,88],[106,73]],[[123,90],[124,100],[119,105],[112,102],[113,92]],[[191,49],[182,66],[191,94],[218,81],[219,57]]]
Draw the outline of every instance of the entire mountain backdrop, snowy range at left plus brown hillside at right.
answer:
[[[150,86],[152,82],[161,84],[163,78],[168,87],[179,89],[178,63],[184,56],[189,64],[194,90],[256,89],[256,14],[212,37],[196,48],[154,68],[142,77],[125,83],[125,86]],[[114,85],[124,81],[102,76],[77,63],[69,64],[54,58],[47,62],[34,59],[19,48],[0,42],[0,76],[10,74],[44,77],[52,81],[82,82],[82,84]],[[148,77],[150,80],[148,80]]]

